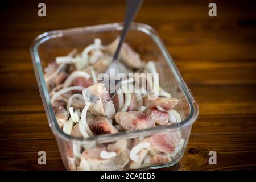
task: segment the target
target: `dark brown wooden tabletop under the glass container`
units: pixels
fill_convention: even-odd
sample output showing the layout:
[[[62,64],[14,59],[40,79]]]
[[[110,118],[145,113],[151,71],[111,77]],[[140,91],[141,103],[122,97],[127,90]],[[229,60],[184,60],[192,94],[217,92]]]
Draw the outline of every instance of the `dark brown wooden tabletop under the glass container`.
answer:
[[[256,169],[256,14],[253,1],[146,1],[136,21],[154,27],[200,106],[183,159],[163,170]],[[121,22],[124,1],[1,2],[0,169],[63,170],[32,69],[39,34]],[[47,164],[38,164],[38,151]],[[217,152],[209,165],[208,152]]]

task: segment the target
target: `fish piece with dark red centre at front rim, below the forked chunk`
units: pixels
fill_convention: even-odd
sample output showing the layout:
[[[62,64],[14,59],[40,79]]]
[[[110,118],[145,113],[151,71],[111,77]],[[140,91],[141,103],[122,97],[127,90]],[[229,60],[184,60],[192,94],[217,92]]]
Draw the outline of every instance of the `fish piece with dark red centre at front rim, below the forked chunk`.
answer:
[[[96,135],[118,133],[118,130],[104,117],[91,116],[86,118],[86,122]]]

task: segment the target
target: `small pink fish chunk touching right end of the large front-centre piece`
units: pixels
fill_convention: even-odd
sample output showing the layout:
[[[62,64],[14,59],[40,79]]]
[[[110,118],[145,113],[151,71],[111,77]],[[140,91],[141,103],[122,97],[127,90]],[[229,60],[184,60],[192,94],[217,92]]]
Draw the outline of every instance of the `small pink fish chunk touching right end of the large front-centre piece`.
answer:
[[[158,125],[166,125],[169,122],[169,114],[167,112],[150,109],[148,114]]]

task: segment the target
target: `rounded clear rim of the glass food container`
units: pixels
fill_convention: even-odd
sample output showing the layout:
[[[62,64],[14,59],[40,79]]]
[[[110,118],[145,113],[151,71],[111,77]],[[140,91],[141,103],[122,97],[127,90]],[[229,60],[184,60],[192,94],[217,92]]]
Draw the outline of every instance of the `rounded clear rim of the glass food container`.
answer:
[[[162,40],[158,36],[158,33],[155,31],[154,28],[152,28],[147,24],[133,22],[130,28],[133,30],[141,31],[151,36],[152,40],[154,40],[154,42],[158,45],[158,47],[162,51],[163,56],[166,59],[172,73],[174,73],[174,76],[177,82],[179,82],[181,89],[183,90],[185,96],[187,97],[189,106],[191,107],[191,113],[183,121],[181,121],[180,123],[176,123],[174,125],[158,126],[158,127],[152,127],[150,129],[142,129],[142,130],[134,130],[134,131],[122,131],[120,133],[103,134],[103,135],[98,135],[90,138],[73,137],[71,135],[64,133],[60,129],[55,118],[55,114],[53,111],[53,107],[51,105],[46,82],[44,80],[43,68],[40,62],[40,57],[38,52],[38,48],[40,44],[46,42],[49,39],[62,37],[62,36],[86,34],[89,32],[101,32],[101,31],[108,31],[108,30],[109,31],[122,30],[122,28],[123,28],[123,23],[109,23],[109,24],[100,24],[100,25],[78,27],[78,28],[68,28],[63,30],[53,30],[53,31],[48,31],[48,32],[44,32],[43,34],[40,34],[35,38],[34,42],[32,42],[30,46],[30,53],[32,57],[32,63],[34,66],[36,81],[38,84],[40,96],[43,101],[44,110],[46,111],[49,126],[51,127],[53,134],[55,134],[55,137],[62,138],[69,142],[72,141],[74,143],[83,143],[83,144],[96,143],[96,142],[105,143],[105,142],[112,142],[114,140],[123,139],[123,138],[127,139],[127,138],[141,137],[144,135],[163,133],[166,130],[175,131],[175,130],[179,130],[181,127],[190,126],[196,121],[199,115],[199,106],[195,98],[193,97],[191,91],[189,90],[187,84],[185,84],[185,81],[181,77],[180,72],[174,63],[174,60],[168,53]]]

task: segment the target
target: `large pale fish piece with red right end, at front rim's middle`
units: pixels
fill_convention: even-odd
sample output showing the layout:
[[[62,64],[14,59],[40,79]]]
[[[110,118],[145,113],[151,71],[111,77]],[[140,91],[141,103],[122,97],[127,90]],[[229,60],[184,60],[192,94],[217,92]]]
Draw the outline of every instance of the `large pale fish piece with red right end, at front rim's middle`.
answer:
[[[147,129],[155,126],[155,122],[149,115],[138,111],[119,112],[114,118],[125,130]]]

